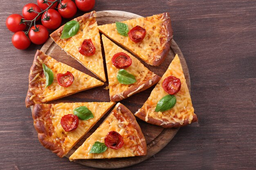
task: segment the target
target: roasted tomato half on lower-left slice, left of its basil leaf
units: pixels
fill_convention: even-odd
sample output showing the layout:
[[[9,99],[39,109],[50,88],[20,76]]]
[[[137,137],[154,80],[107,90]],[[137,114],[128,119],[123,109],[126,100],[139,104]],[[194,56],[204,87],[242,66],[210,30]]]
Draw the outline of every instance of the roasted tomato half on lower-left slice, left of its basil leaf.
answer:
[[[61,126],[66,132],[75,130],[79,124],[78,116],[76,115],[65,115],[61,117]]]

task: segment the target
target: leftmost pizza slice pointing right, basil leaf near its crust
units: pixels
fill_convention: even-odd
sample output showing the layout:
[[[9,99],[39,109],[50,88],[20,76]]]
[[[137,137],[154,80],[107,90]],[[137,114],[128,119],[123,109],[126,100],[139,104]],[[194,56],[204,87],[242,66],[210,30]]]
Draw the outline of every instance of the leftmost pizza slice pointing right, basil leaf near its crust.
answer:
[[[26,106],[45,103],[104,83],[36,51],[29,73]]]

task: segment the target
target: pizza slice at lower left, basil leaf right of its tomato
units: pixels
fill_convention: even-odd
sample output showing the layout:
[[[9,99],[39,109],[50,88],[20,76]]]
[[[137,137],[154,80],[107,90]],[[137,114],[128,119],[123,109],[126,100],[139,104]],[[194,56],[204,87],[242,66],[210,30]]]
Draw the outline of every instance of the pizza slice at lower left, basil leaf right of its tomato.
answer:
[[[45,148],[64,157],[114,104],[35,104],[32,116],[38,139]]]

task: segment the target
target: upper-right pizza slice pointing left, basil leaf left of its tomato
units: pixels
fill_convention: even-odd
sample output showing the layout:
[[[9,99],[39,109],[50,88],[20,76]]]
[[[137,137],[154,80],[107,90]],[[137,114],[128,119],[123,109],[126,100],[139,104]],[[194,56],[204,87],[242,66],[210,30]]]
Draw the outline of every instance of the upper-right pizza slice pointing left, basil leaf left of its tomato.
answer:
[[[99,31],[146,63],[159,66],[173,37],[169,13],[98,26]]]

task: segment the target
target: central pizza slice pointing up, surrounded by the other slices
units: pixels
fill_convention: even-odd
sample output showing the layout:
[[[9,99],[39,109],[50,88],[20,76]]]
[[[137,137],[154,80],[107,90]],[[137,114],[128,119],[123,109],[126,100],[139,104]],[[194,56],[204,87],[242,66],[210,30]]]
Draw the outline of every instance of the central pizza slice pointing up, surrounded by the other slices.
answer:
[[[117,102],[156,84],[161,77],[102,35],[110,100]]]

